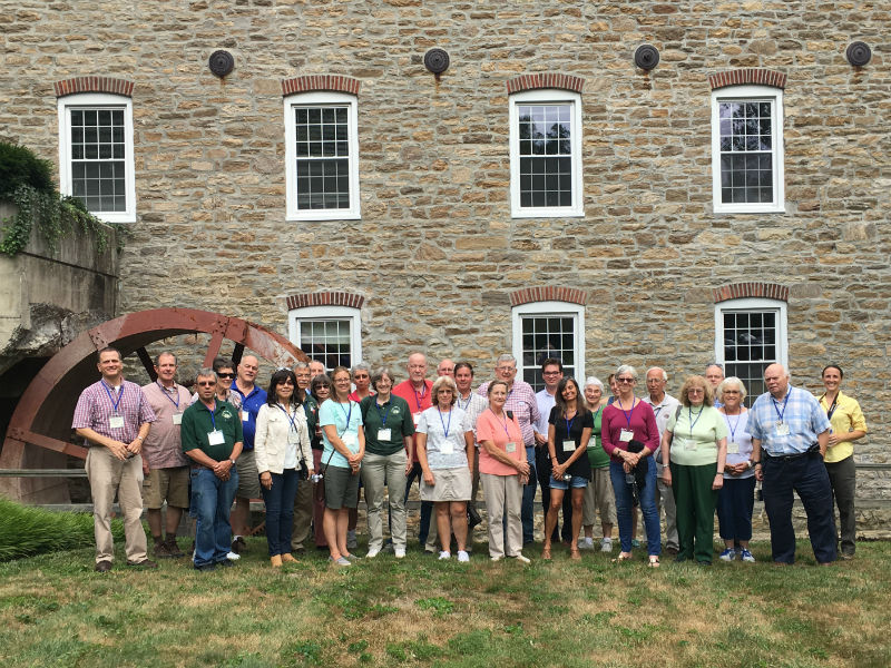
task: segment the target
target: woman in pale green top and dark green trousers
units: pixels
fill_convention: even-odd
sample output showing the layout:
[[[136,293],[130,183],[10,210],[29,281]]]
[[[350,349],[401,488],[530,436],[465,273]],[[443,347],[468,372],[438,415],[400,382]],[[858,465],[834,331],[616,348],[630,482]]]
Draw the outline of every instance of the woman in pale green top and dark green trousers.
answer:
[[[681,406],[662,438],[663,480],[677,508],[677,561],[712,566],[717,494],[724,487],[727,425],[712,405],[712,385],[701,375],[681,386]]]

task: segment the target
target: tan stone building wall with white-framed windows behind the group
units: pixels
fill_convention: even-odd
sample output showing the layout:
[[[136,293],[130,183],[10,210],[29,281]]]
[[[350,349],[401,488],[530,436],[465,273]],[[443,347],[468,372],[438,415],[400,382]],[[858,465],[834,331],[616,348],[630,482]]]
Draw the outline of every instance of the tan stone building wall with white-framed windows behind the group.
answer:
[[[372,363],[401,366],[421,348],[471,360],[482,375],[497,353],[522,353],[527,341],[538,346],[520,355],[529,366],[547,350],[600,377],[620,362],[659,364],[674,377],[669,391],[734,355],[786,361],[793,382],[815,391],[834,361],[872,428],[861,459],[887,461],[887,3],[3,0],[0,9],[0,137],[56,158],[70,178],[71,156],[58,157],[66,100],[129,105],[135,178],[121,186],[129,208],[118,219],[130,216],[133,237],[120,258],[120,313],[206,308],[292,337],[301,327],[320,345],[340,337]],[[854,41],[872,49],[863,67],[845,58]],[[660,57],[648,71],[634,60],[645,43]],[[439,76],[424,66],[433,48],[449,55]],[[208,68],[217,50],[234,58],[224,78]],[[77,97],[89,94],[112,97]],[[715,183],[722,109],[765,100],[751,114],[740,107],[754,126],[732,130],[761,127],[761,143],[727,140],[770,156],[768,174],[728,163],[735,176]],[[327,105],[354,114],[343,122],[354,180],[320,197],[334,210],[312,219],[287,180],[287,164],[300,173],[301,160],[286,126],[297,108]],[[523,129],[546,108],[568,120]],[[565,134],[548,135],[557,126]],[[529,127],[546,136],[527,155]],[[550,148],[536,151],[551,145],[549,163]],[[568,180],[529,186],[523,165]],[[754,197],[763,190],[761,205],[723,202],[740,175]],[[555,205],[561,194],[569,199]],[[311,321],[327,324],[310,334]],[[883,477],[873,483],[891,497]]]

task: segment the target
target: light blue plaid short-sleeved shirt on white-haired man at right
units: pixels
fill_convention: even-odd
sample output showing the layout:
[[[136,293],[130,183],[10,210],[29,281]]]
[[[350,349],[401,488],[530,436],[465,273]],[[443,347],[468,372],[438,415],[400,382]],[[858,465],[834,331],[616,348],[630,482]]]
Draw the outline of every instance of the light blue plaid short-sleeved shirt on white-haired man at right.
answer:
[[[783,433],[786,428],[787,434]],[[792,385],[782,401],[765,392],[748,412],[748,433],[772,456],[807,452],[829,428],[829,419],[813,394]]]

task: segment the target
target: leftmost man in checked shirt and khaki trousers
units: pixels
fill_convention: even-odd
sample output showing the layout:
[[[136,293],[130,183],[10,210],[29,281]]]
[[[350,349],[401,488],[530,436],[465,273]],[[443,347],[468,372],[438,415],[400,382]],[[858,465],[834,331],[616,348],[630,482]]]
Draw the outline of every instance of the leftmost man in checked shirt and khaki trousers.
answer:
[[[110,515],[116,492],[124,513],[127,566],[157,568],[146,557],[139,455],[155,412],[143,389],[124,380],[119,351],[100,350],[98,369],[102,377],[81,392],[71,423],[71,429],[86,439],[85,445],[89,448],[85,469],[92,493],[96,570],[108,572],[115,558]]]

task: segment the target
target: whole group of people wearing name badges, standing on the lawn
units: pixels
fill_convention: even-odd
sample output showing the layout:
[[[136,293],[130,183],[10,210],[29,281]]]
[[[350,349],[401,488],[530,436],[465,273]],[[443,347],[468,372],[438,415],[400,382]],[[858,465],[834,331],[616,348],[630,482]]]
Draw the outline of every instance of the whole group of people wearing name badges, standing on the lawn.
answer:
[[[332,563],[347,567],[359,559],[353,550],[360,487],[368,508],[366,558],[390,549],[399,559],[405,556],[405,508],[415,480],[419,541],[441,560],[454,552],[458,561],[469,561],[480,482],[493,561],[529,562],[522,550],[533,540],[540,489],[545,560],[560,541],[574,560],[594,549],[598,514],[600,550],[613,551],[618,524],[615,561],[630,559],[640,544],[639,508],[653,568],[662,556],[660,510],[666,551],[677,561],[712,562],[717,510],[725,546],[719,558],[752,562],[756,481],[763,484],[774,562],[794,561],[793,490],[807,513],[817,562],[836,559],[833,500],[842,557],[854,553],[851,443],[865,435],[866,425],[858,402],[840,391],[838,365],[823,370],[825,392],[819,397],[792,386],[783,365],[767,366],[768,391],[751,410],[743,382],[725,379],[717,364],[688,376],[679,399],[666,393],[668,376],[660,367],[647,370],[647,395],[639,397],[636,370],[619,366],[608,377],[607,395],[596,377],[580,385],[565,376],[555,357],[541,363],[545,387],[535,392],[517,379],[511,355],[498,357],[495,379],[476,390],[470,363],[442,360],[431,381],[422,353],[409,356],[402,382],[389,367],[358,364],[327,373],[311,361],[276,370],[265,391],[255,383],[255,356],[237,364],[218,357],[197,373],[194,395],[176,382],[170,352],[156,357],[157,380],[144,387],[124,380],[115,348],[99,351],[98,370],[102,377],[80,395],[72,428],[89,446],[99,572],[112,568],[115,493],[128,566],[157,566],[147,554],[144,504],[156,557],[184,556],[176,534],[188,511],[196,518],[194,567],[232,566],[247,549],[251,499],[262,497],[273,567],[296,561],[311,532]]]

